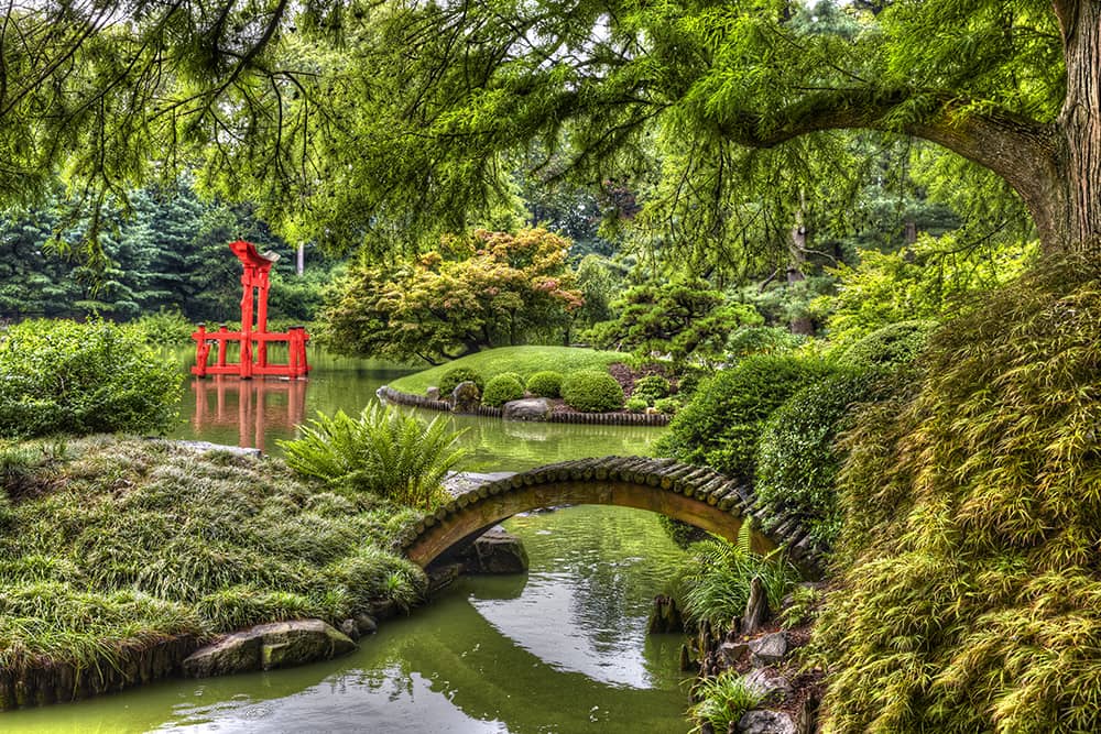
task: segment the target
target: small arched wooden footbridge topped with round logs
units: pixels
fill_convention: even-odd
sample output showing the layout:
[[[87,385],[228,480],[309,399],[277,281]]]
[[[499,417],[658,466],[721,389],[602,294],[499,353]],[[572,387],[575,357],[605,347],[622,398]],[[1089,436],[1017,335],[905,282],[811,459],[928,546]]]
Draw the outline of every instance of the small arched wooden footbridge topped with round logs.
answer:
[[[604,457],[549,464],[465,492],[426,516],[403,544],[406,556],[427,568],[498,523],[522,512],[562,505],[621,505],[685,521],[728,540],[742,523],[764,519],[754,513],[749,487],[711,469],[673,459]],[[819,573],[821,549],[794,521],[757,534],[756,550],[784,545],[806,571]]]

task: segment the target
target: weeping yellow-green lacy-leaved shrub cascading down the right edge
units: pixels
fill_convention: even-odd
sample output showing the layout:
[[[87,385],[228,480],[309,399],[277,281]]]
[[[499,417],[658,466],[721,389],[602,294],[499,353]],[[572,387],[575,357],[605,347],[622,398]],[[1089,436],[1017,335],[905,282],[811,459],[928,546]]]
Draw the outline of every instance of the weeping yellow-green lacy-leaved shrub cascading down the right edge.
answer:
[[[1101,270],[934,335],[847,437],[828,732],[1101,731]]]

